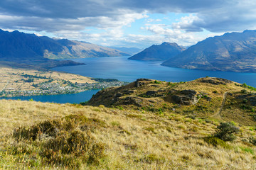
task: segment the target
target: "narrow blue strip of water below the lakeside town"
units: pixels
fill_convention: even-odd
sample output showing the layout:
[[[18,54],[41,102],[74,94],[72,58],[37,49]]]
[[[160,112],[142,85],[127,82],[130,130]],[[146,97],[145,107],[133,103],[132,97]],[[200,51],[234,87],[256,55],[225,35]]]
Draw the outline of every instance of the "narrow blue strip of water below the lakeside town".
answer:
[[[96,94],[99,90],[82,91],[78,94],[59,94],[59,95],[43,95],[43,96],[21,96],[13,98],[4,98],[11,100],[29,101],[31,98],[33,101],[50,102],[50,103],[80,103],[89,101],[93,94]]]

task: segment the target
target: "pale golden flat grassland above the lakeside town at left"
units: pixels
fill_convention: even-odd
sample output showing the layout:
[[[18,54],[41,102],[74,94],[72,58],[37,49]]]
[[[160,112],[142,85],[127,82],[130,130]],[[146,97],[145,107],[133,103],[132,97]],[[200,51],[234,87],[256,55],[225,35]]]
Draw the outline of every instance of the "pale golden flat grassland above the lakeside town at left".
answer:
[[[62,80],[70,81],[72,83],[94,83],[95,81],[89,77],[82,77],[77,74],[69,74],[64,72],[53,71],[38,71],[34,69],[14,69],[11,67],[0,67],[0,92],[4,89],[6,91],[12,90],[33,90],[36,89],[32,84],[38,84],[47,79],[34,79],[33,83],[23,82],[21,79],[25,79],[21,74],[28,74],[35,76],[36,74],[41,77],[51,77],[54,81],[62,84]]]

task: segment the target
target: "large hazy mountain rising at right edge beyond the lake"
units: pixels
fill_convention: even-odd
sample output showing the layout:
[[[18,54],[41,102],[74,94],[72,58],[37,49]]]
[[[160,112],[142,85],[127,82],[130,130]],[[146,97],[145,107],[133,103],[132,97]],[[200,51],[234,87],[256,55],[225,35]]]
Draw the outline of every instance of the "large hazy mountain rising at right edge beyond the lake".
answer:
[[[162,65],[186,69],[256,72],[256,30],[207,38]]]

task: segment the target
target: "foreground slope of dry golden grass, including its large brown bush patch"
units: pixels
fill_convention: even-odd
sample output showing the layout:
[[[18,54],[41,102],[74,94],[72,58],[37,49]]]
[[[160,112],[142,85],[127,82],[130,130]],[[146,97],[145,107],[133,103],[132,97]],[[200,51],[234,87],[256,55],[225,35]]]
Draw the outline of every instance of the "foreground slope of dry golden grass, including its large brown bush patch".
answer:
[[[255,127],[233,123],[234,142],[209,142],[219,123],[169,110],[1,100],[0,169],[255,169]]]

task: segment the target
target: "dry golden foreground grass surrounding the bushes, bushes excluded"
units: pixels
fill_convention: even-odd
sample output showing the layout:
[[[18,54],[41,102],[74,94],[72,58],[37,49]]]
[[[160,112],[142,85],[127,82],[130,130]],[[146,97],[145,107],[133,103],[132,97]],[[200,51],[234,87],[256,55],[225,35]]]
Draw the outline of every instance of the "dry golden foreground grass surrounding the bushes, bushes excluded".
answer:
[[[6,155],[11,141],[6,136],[20,125],[33,125],[70,114],[82,114],[105,122],[92,130],[105,144],[106,157],[98,165],[82,164],[81,169],[256,169],[256,147],[246,142],[255,130],[241,126],[230,149],[213,147],[203,137],[215,132],[218,121],[186,118],[164,112],[151,113],[104,106],[0,101],[0,169],[28,169],[29,155]],[[21,157],[21,158],[18,158]],[[35,165],[34,169],[66,169],[63,166]]]

